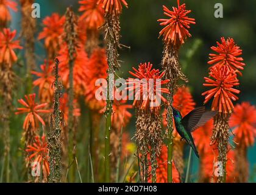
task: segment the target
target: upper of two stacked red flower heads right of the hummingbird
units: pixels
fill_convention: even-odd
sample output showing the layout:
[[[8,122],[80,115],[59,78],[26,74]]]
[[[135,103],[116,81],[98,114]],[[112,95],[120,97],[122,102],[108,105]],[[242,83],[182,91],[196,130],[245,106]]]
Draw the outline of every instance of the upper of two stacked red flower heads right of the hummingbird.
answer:
[[[243,58],[239,57],[242,54],[242,50],[235,44],[233,38],[225,40],[221,37],[221,43],[217,41],[218,46],[212,47],[211,49],[218,54],[209,54],[210,61],[209,65],[222,66],[225,65],[230,71],[235,71],[241,74],[238,69],[244,69]]]

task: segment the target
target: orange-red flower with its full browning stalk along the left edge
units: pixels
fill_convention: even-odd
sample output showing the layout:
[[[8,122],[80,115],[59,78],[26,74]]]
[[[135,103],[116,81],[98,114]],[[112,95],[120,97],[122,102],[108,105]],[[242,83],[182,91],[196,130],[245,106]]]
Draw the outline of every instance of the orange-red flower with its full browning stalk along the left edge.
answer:
[[[15,2],[13,4],[16,6]],[[0,50],[2,51],[0,57],[0,96],[2,99],[0,116],[4,131],[5,182],[10,182],[10,111],[12,110],[13,88],[16,80],[12,65],[18,60],[14,49],[22,49],[20,41],[13,40],[15,35],[16,30],[12,32],[10,29],[4,28],[0,32]]]

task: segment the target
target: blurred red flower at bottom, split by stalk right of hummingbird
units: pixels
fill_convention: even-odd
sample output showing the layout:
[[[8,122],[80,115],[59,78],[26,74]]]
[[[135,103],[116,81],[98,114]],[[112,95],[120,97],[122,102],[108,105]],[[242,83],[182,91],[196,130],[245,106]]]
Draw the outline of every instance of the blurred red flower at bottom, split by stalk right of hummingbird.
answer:
[[[227,171],[227,182],[235,182],[234,165],[235,152],[230,150],[227,152],[227,163],[226,163],[226,171]],[[218,150],[213,149],[213,147],[207,147],[207,155],[202,158],[202,176],[204,179],[208,179],[212,182],[217,182],[218,180]]]

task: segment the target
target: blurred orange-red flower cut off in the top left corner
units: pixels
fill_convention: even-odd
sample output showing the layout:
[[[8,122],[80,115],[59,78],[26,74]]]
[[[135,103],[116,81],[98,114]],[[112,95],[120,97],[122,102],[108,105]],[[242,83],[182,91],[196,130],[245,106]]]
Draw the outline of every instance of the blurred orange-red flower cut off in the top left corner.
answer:
[[[17,3],[11,0],[0,0],[0,26],[5,26],[10,21],[9,8],[17,12]]]

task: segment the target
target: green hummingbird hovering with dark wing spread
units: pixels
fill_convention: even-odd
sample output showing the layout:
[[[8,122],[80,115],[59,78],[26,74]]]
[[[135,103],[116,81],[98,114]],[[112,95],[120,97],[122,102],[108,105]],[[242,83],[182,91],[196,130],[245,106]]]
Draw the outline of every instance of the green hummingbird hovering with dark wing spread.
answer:
[[[182,140],[187,141],[187,143],[192,147],[196,156],[199,158],[191,132],[194,132],[194,130],[203,126],[208,120],[213,118],[217,112],[205,112],[205,107],[197,107],[182,118],[179,110],[172,107],[172,113],[177,132],[179,133],[180,137],[182,137]]]

